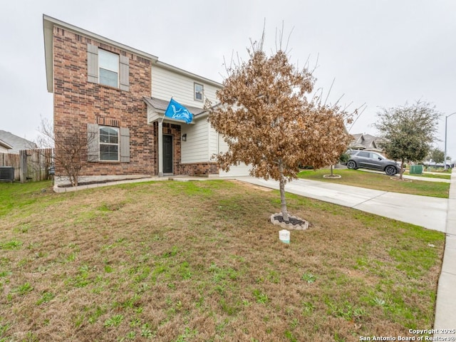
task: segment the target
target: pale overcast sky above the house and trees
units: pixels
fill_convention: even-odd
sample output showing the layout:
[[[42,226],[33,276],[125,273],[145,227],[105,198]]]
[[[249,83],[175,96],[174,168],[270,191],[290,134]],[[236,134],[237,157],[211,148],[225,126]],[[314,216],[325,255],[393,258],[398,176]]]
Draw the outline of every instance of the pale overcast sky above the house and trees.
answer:
[[[222,82],[224,58],[246,57],[266,20],[267,51],[276,28],[291,32],[291,61],[318,68],[316,88],[334,86],[331,102],[367,108],[350,133],[371,133],[380,108],[423,100],[456,112],[454,0],[31,0],[2,1],[0,129],[34,140],[40,117],[52,118],[46,90],[43,14],[105,36],[160,61]],[[456,115],[447,120],[447,154],[456,159]]]

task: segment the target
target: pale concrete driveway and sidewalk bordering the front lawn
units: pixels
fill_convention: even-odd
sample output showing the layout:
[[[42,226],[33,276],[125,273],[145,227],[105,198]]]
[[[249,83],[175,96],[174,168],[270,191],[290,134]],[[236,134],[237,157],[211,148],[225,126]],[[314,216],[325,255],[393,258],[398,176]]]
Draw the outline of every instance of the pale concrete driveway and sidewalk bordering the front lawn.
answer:
[[[242,182],[279,189],[278,182],[254,177],[236,177]],[[405,195],[368,190],[330,182],[294,180],[286,192],[371,212],[383,217],[446,233],[445,255],[437,288],[435,341],[455,341],[456,333],[456,172],[451,176],[450,198]],[[419,328],[419,327],[418,327]],[[450,332],[444,332],[445,329]]]

